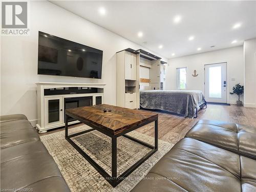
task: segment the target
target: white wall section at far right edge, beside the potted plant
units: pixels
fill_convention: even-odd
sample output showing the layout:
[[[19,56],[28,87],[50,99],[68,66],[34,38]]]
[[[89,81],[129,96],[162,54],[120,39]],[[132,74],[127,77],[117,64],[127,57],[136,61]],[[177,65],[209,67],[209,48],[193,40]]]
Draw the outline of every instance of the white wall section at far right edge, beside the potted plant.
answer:
[[[256,38],[244,41],[244,106],[256,107]]]

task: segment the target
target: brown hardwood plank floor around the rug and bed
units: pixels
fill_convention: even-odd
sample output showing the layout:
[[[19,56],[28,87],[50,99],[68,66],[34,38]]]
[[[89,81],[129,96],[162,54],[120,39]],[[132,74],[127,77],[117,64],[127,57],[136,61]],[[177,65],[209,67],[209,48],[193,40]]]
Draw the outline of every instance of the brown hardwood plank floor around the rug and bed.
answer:
[[[256,108],[244,108],[243,106],[237,105],[216,105],[207,104],[206,110],[200,110],[198,117],[194,119],[187,119],[183,116],[178,116],[170,113],[159,112],[159,128],[158,136],[159,139],[177,143],[182,139],[186,133],[193,127],[200,119],[220,120],[226,122],[240,123],[256,127]],[[79,126],[76,124],[70,126],[70,128]],[[51,134],[56,131],[62,131],[64,128],[49,131],[46,134]],[[154,136],[154,123],[145,125],[140,129],[136,130],[140,133]],[[45,134],[41,134],[45,135]]]

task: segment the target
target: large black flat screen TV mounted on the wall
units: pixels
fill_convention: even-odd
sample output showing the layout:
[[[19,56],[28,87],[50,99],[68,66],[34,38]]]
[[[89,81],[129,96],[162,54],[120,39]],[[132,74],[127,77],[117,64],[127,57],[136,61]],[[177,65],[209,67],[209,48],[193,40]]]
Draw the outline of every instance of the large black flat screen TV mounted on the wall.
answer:
[[[103,51],[39,31],[38,74],[101,79]]]

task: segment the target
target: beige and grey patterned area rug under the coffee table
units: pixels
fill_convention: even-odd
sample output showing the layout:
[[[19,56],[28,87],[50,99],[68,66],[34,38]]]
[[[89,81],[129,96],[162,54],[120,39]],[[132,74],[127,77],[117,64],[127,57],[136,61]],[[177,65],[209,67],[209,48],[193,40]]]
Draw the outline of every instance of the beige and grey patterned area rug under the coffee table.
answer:
[[[70,129],[69,135],[87,129],[90,127],[81,125]],[[135,131],[127,135],[154,145],[153,137]],[[113,188],[65,139],[65,131],[55,132],[40,138],[57,163],[71,191],[130,191],[173,146],[173,144],[159,140],[158,151]],[[92,131],[73,137],[72,140],[111,175],[110,137],[98,131]],[[150,149],[147,147],[130,139],[118,137],[117,175],[121,175],[149,151]]]

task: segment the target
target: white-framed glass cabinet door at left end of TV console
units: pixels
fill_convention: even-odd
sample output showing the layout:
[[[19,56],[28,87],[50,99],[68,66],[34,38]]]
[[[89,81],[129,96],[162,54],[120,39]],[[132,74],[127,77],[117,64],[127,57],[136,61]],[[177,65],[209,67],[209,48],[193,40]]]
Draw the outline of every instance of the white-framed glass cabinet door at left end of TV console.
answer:
[[[63,99],[62,97],[45,98],[45,125],[52,126],[63,123]]]

